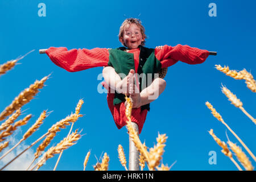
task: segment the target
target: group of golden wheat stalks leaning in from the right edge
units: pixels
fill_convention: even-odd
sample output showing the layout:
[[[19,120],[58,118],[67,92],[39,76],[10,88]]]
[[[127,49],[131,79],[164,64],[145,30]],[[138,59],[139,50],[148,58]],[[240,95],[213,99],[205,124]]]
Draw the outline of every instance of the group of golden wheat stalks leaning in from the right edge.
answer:
[[[254,80],[254,77],[253,77],[253,75],[251,75],[251,73],[247,72],[246,69],[243,69],[242,71],[235,71],[235,70],[230,70],[229,67],[226,67],[226,66],[221,67],[221,65],[215,65],[215,68],[218,71],[223,72],[223,73],[225,73],[225,75],[230,76],[236,80],[245,80],[247,88],[249,88],[249,90],[251,92],[254,92],[254,93],[256,92],[256,82]],[[254,119],[249,113],[247,113],[247,111],[243,108],[242,101],[239,98],[237,98],[236,94],[232,93],[228,88],[226,88],[226,86],[223,86],[223,85],[221,87],[221,91],[222,91],[222,93],[225,94],[225,96],[228,98],[228,100],[231,102],[232,105],[239,108],[251,120],[251,122],[256,124],[256,119]],[[207,105],[208,109],[210,111],[212,111],[213,116],[218,121],[220,121],[226,127],[226,129],[228,129],[230,131],[230,133],[232,133],[234,135],[234,137],[238,140],[238,142],[240,142],[240,144],[242,145],[244,150],[246,150],[247,153],[249,154],[250,158],[253,159],[254,162],[256,162],[256,157],[253,154],[253,152],[251,152],[249,147],[246,146],[246,144],[242,141],[242,139],[240,137],[238,137],[238,135],[229,127],[229,125],[222,118],[221,114],[218,113],[216,111],[216,109],[214,109],[214,107],[212,106],[212,104],[210,104],[210,102],[208,102],[208,101],[205,102],[205,105]],[[240,146],[237,146],[236,143],[231,142],[229,140],[229,138],[226,143],[222,142],[213,133],[213,129],[210,129],[209,134],[212,135],[212,137],[216,141],[216,143],[222,148],[221,152],[224,155],[228,156],[228,158],[230,158],[230,160],[232,160],[234,165],[240,171],[243,171],[243,169],[236,162],[236,160],[234,160],[234,158],[233,158],[234,155],[237,157],[238,162],[240,162],[240,164],[243,166],[243,168],[246,171],[253,171],[254,167],[251,164],[249,157],[245,154],[245,152],[242,151],[242,148]],[[228,146],[229,146],[229,148],[228,148]],[[233,151],[233,153],[231,151]]]

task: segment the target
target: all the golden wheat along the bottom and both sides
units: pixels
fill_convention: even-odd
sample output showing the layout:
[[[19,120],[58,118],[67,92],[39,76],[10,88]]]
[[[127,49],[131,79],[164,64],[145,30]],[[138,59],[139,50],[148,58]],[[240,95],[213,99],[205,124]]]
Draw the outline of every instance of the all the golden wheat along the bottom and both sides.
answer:
[[[6,63],[0,65],[0,78],[2,75],[7,74],[11,69],[13,69],[16,63],[23,58],[24,56],[19,57],[15,60],[7,61]],[[237,72],[230,70],[229,67],[221,67],[221,65],[216,65],[216,69],[225,73],[227,76],[233,77],[236,80],[245,80],[247,88],[249,88],[251,92],[256,92],[256,84],[253,75],[251,75],[251,73],[247,72],[245,69],[243,69],[240,72]],[[18,117],[22,115],[22,107],[28,104],[31,100],[33,100],[35,96],[39,93],[39,90],[44,88],[46,81],[49,79],[49,76],[50,75],[45,76],[41,80],[35,80],[35,82],[32,83],[28,88],[20,92],[19,95],[14,98],[14,100],[11,102],[9,106],[6,106],[5,109],[1,111],[0,160],[5,158],[7,154],[14,150],[14,148],[18,147],[20,143],[24,142],[28,138],[32,138],[31,136],[36,131],[40,130],[40,126],[48,119],[51,111],[48,112],[47,109],[43,110],[34,122],[34,124],[23,134],[23,137],[20,138],[19,142],[17,142],[13,146],[9,146],[9,137],[13,135],[14,131],[19,129],[20,127],[27,125],[28,121],[30,121],[30,119],[32,118],[32,114],[27,114],[22,119],[16,121]],[[250,115],[245,110],[246,106],[243,106],[242,101],[236,96],[236,94],[231,92],[228,88],[226,88],[226,86],[223,85],[221,90],[232,105],[240,109],[251,120],[251,122],[256,124],[256,120],[253,118],[252,115]],[[129,137],[133,139],[135,147],[137,147],[137,150],[139,151],[138,160],[141,171],[143,171],[143,169],[145,169],[146,166],[148,170],[151,171],[170,171],[171,167],[175,163],[173,163],[171,166],[168,166],[168,164],[163,164],[164,148],[166,147],[166,142],[168,138],[167,135],[158,134],[158,137],[156,138],[156,144],[154,144],[153,147],[147,147],[146,142],[142,143],[141,140],[139,139],[138,133],[133,128],[133,125],[131,125],[131,110],[133,104],[129,97],[126,96],[125,98],[127,101],[126,117],[128,118],[126,125],[127,137],[129,135]],[[56,170],[63,152],[65,152],[65,150],[67,150],[69,147],[72,147],[74,144],[79,142],[80,138],[83,135],[81,134],[81,130],[79,131],[79,129],[75,129],[75,131],[73,131],[73,126],[75,125],[75,122],[79,118],[84,117],[84,115],[80,114],[80,110],[83,104],[84,101],[80,99],[77,102],[74,112],[71,112],[70,115],[67,115],[66,117],[60,119],[51,127],[49,127],[47,131],[44,131],[44,134],[41,137],[33,139],[34,142],[32,142],[25,150],[16,155],[12,160],[7,162],[5,166],[3,166],[0,170],[4,170],[7,166],[13,163],[16,159],[20,157],[20,155],[23,155],[24,152],[26,152],[31,147],[35,147],[36,152],[34,153],[34,159],[30,163],[30,165],[27,166],[27,170],[39,170],[40,167],[44,165],[46,160],[53,158],[53,156],[55,155],[59,155],[59,158],[57,159],[55,167],[53,169]],[[205,102],[205,105],[207,105],[208,109],[212,111],[213,116],[218,121],[220,121],[230,131],[230,133],[234,135],[234,137],[236,137],[238,142],[243,147],[242,148],[240,144],[238,145],[236,143],[231,142],[229,139],[226,143],[223,142],[213,133],[213,129],[210,129],[209,134],[213,137],[214,141],[222,148],[221,152],[224,155],[226,155],[232,161],[232,163],[234,163],[238,170],[253,170],[254,167],[250,161],[253,160],[254,162],[256,162],[256,158],[253,152],[250,151],[249,147],[247,147],[246,144],[242,141],[242,139],[238,137],[238,135],[229,127],[229,125],[222,118],[221,114],[218,113],[216,109],[214,109],[213,105],[210,104],[210,102]],[[70,129],[67,137],[65,137],[63,140],[57,142],[57,144],[54,144],[52,146],[51,141],[56,137],[56,134],[59,133],[60,131],[63,131],[63,129],[67,128],[68,126],[70,126]],[[37,147],[36,144],[38,144]],[[3,150],[6,147],[11,148],[9,151],[5,151],[3,153]],[[248,156],[244,151],[247,152]],[[90,155],[91,151],[88,151],[85,155],[84,161],[81,161],[81,170],[85,171],[86,165],[88,164],[88,160],[92,160]],[[234,156],[236,156],[237,160],[234,158]],[[127,171],[128,169],[125,149],[122,147],[121,144],[119,144],[117,147],[117,156],[115,157],[119,159],[120,165],[123,167],[124,170]],[[110,156],[107,154],[107,152],[105,152],[104,156],[95,163],[93,168],[95,171],[106,171],[109,169],[110,162]]]

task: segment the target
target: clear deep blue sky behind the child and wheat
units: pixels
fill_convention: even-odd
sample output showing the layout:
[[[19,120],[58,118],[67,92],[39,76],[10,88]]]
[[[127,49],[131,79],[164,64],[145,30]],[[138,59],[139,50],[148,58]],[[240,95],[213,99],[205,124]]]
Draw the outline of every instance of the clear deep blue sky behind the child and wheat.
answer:
[[[38,4],[46,4],[46,17],[38,16]],[[210,17],[209,3],[216,3],[217,17]],[[97,76],[102,68],[69,73],[57,67],[39,49],[49,47],[116,48],[119,26],[125,18],[139,18],[146,28],[146,47],[167,44],[187,44],[191,47],[217,51],[203,64],[188,65],[178,62],[168,69],[166,90],[152,102],[140,138],[148,147],[156,144],[158,133],[168,136],[163,163],[172,170],[236,170],[229,158],[207,131],[213,129],[221,140],[227,141],[226,128],[205,106],[209,101],[225,122],[256,154],[256,127],[241,110],[230,104],[221,92],[226,85],[243,102],[244,108],[256,117],[256,95],[241,80],[225,76],[214,68],[215,64],[231,69],[245,68],[256,77],[255,1],[0,1],[0,64],[35,49],[20,60],[19,65],[0,77],[0,110],[5,109],[19,92],[35,80],[52,73],[46,87],[36,99],[22,107],[33,114],[27,126],[16,138],[35,122],[44,109],[53,110],[40,130],[26,140],[30,144],[46,133],[55,122],[75,111],[80,98],[85,103],[85,114],[74,129],[85,134],[75,146],[63,152],[58,170],[82,170],[86,153],[91,156],[86,169],[92,170],[102,152],[110,157],[110,170],[123,170],[118,160],[117,147],[122,144],[126,158],[129,140],[125,127],[118,130],[107,106],[106,94],[97,92],[102,80]],[[63,139],[69,131],[62,129],[50,146]],[[230,140],[240,143],[227,131]],[[32,148],[35,152],[36,147]],[[209,151],[216,151],[217,164],[210,165]],[[243,149],[243,151],[245,151]],[[249,154],[246,155],[249,156]],[[103,156],[103,154],[102,154]],[[53,169],[57,157],[49,159],[42,170]],[[255,166],[255,162],[250,158]],[[0,163],[1,166],[3,165]],[[128,167],[128,165],[127,165]]]

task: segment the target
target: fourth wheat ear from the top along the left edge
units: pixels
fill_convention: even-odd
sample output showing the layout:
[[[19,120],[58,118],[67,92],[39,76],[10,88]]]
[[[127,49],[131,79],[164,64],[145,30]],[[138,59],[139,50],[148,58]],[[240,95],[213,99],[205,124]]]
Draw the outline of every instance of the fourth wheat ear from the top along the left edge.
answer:
[[[24,117],[23,119],[17,121],[14,123],[14,125],[10,125],[9,127],[7,127],[7,129],[5,131],[3,131],[0,134],[0,142],[2,142],[3,140],[6,139],[6,137],[10,136],[11,134],[13,134],[13,132],[19,127],[19,126],[23,126],[26,125],[28,120],[30,120],[30,118],[32,117],[31,114],[28,114],[26,117]]]

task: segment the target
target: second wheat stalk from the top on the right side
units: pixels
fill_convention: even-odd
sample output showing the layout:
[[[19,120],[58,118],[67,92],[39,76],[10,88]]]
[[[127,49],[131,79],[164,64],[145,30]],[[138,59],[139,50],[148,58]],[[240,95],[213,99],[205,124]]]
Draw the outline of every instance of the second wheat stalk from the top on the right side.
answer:
[[[255,119],[249,113],[247,113],[247,111],[242,107],[243,106],[242,102],[240,101],[240,99],[237,98],[237,96],[235,94],[233,94],[228,88],[226,88],[226,86],[223,86],[223,85],[222,85],[221,90],[222,90],[222,93],[224,93],[225,96],[229,98],[229,101],[231,101],[231,103],[234,106],[241,109],[243,111],[243,113],[245,113],[245,115],[247,115],[247,117],[249,117],[251,119],[251,121],[253,121],[254,124],[256,124]]]

